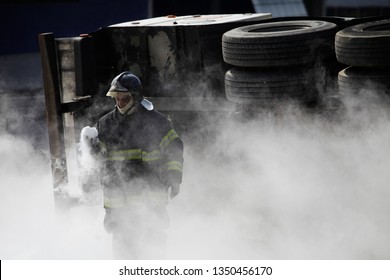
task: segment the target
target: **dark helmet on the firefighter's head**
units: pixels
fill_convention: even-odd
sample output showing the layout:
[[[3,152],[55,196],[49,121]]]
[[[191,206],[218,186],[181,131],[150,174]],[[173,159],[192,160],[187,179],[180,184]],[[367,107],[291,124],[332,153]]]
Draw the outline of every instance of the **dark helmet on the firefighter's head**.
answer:
[[[116,92],[129,92],[136,100],[142,101],[143,99],[141,81],[129,71],[120,73],[112,80],[106,95],[115,97]]]

